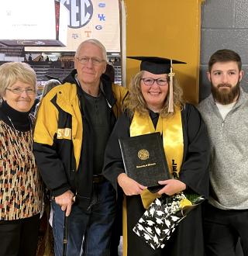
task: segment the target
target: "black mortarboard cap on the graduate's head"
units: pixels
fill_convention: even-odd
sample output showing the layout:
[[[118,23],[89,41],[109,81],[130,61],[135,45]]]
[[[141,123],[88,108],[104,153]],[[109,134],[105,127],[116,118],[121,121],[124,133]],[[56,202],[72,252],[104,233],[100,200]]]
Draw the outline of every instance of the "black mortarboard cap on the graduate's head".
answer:
[[[128,56],[129,59],[141,61],[140,71],[148,71],[153,74],[169,74],[172,64],[186,64],[183,61],[176,61],[164,57]]]

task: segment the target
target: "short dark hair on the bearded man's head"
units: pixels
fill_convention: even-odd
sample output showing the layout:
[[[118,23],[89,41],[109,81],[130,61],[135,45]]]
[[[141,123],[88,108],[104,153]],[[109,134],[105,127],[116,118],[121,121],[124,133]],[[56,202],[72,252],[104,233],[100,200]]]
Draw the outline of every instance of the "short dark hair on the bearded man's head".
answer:
[[[241,71],[242,61],[239,56],[234,50],[229,49],[222,49],[215,51],[214,54],[210,57],[208,61],[208,71],[211,72],[213,64],[216,62],[228,62],[228,61],[235,61],[238,64],[239,71]]]

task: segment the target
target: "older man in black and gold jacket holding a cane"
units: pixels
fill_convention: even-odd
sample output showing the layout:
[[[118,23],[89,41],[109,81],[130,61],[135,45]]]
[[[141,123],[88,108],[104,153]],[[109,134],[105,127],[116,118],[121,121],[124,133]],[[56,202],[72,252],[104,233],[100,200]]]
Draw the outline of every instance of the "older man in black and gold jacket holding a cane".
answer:
[[[62,255],[64,213],[69,255],[80,255],[83,238],[84,255],[109,255],[115,192],[101,173],[105,144],[127,92],[103,74],[106,59],[98,40],[81,43],[75,70],[44,97],[38,112],[33,149],[54,198],[56,255]]]

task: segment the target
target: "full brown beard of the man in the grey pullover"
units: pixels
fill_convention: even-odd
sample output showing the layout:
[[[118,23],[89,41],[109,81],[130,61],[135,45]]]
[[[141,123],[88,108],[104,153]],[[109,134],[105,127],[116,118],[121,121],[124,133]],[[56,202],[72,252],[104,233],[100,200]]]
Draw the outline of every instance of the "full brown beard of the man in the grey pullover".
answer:
[[[215,99],[216,102],[219,102],[222,105],[227,105],[236,99],[236,96],[239,95],[239,81],[236,84],[236,86],[232,87],[232,85],[229,84],[219,84],[217,87],[212,85],[211,82],[211,92],[212,96]],[[219,89],[220,87],[226,87]]]

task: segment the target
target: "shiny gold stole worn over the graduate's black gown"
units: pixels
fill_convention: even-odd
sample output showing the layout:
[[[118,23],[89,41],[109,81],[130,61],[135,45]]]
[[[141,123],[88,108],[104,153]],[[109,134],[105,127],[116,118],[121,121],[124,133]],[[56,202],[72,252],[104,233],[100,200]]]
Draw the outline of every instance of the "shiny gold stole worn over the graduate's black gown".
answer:
[[[174,115],[169,118],[159,117],[156,130],[149,114],[140,116],[138,112],[134,113],[130,125],[130,137],[147,133],[160,132],[163,135],[164,153],[171,175],[176,172],[177,175],[181,170],[181,164],[184,154],[184,137],[181,123],[181,109],[177,107]],[[148,209],[150,203],[158,196],[145,189],[141,194],[141,199],[145,209]],[[127,255],[127,229],[126,229],[126,196],[123,202],[123,255]]]

